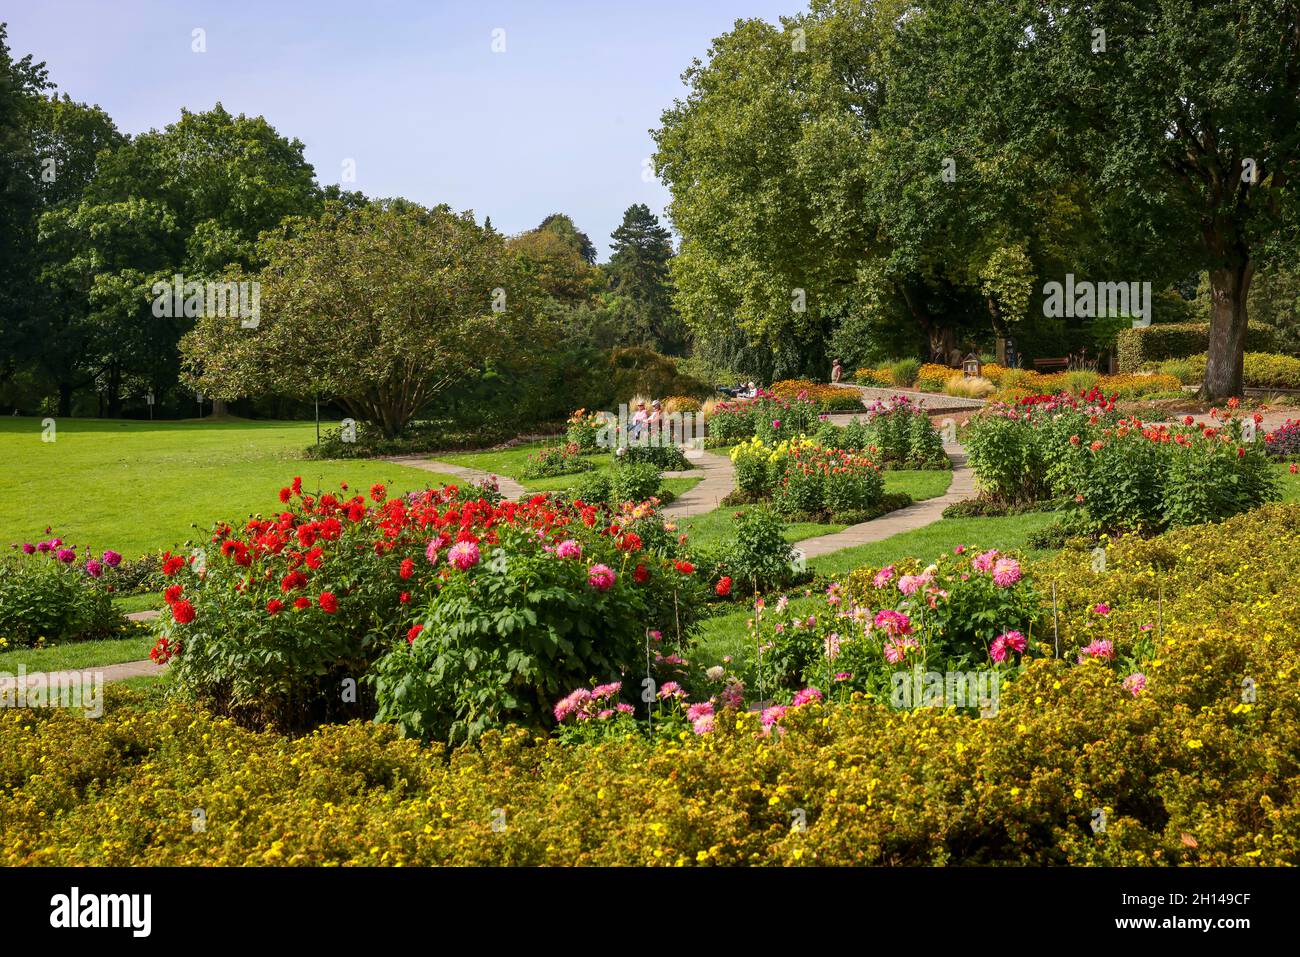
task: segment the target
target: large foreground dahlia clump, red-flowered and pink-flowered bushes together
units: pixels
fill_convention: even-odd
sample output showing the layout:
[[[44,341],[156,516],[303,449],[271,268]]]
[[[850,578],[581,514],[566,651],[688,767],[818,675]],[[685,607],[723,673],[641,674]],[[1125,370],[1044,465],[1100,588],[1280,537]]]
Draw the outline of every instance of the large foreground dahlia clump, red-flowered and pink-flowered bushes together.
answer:
[[[624,661],[629,636],[685,633],[694,620],[682,596],[696,585],[673,572],[680,544],[653,506],[494,505],[455,486],[316,498],[298,480],[281,502],[274,518],[220,524],[204,549],[162,564],[155,661],[174,659],[183,689],[248,724],[378,707],[411,733],[472,735],[534,718],[529,689],[536,702],[593,662]],[[478,697],[488,689],[491,707]]]

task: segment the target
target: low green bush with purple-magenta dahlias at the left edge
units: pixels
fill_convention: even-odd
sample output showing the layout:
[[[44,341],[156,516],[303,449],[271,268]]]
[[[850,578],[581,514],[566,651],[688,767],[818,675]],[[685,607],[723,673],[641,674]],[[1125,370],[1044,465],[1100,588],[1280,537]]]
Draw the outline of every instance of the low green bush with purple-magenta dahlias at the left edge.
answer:
[[[121,557],[81,558],[61,538],[0,557],[0,648],[108,638],[126,628],[110,589]]]

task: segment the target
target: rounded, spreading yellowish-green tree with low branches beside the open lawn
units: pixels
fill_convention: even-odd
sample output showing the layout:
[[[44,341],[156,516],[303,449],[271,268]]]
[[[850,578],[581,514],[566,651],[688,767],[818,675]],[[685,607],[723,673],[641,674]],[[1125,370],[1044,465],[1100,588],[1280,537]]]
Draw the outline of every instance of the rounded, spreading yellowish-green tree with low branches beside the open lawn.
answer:
[[[469,213],[329,207],[260,250],[255,329],[202,319],[182,342],[208,395],[320,395],[396,436],[439,393],[529,342],[536,287]]]

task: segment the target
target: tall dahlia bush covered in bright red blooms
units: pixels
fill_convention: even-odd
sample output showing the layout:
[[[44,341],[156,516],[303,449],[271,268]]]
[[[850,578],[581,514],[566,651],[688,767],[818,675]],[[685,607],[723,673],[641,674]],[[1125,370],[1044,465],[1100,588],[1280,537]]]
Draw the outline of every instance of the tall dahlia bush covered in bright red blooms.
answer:
[[[376,485],[368,502],[304,495],[295,480],[281,501],[274,518],[239,529],[218,524],[194,557],[166,555],[162,564],[169,610],[152,657],[174,659],[183,690],[250,726],[369,716],[373,702],[354,692],[370,687],[373,663],[406,642],[412,609],[428,609],[446,580],[499,551],[508,567],[514,554],[500,547],[503,536],[510,547],[526,538],[545,550],[577,532],[592,540],[589,551],[612,554],[614,540],[637,521],[642,542],[672,554],[675,541],[645,506],[640,516],[618,519],[615,533],[597,507],[545,497],[460,501],[451,486],[390,499]],[[662,602],[650,607],[662,614]],[[528,623],[514,627],[526,631]]]

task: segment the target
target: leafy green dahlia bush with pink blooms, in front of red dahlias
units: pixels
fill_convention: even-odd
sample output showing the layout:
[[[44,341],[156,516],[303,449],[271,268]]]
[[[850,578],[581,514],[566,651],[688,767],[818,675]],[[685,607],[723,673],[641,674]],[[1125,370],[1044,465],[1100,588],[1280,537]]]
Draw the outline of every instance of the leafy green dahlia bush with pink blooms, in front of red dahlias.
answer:
[[[506,528],[481,560],[474,546],[472,564],[448,567],[421,631],[374,664],[378,720],[439,741],[540,726],[562,690],[637,662],[650,609],[629,559],[608,537],[538,542]]]

